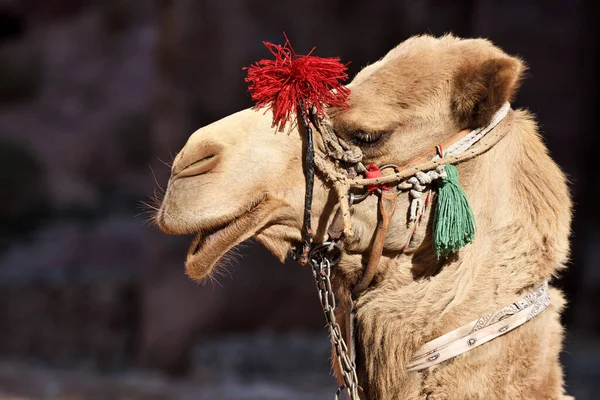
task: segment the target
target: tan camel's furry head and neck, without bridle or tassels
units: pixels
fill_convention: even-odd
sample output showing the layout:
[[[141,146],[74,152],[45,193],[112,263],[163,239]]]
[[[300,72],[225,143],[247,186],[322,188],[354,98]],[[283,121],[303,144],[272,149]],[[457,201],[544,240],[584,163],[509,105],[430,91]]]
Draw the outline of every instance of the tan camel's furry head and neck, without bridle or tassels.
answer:
[[[348,85],[349,107],[327,113],[335,134],[359,146],[367,162],[404,165],[489,123],[524,70],[486,39],[416,36],[359,72]],[[195,235],[185,263],[193,279],[251,237],[282,261],[302,239],[305,136],[297,127],[277,132],[270,114],[247,109],[203,127],[174,160],[156,222],[166,233]],[[534,117],[511,109],[494,129],[505,136],[456,166],[477,221],[472,243],[436,256],[428,209],[402,252],[409,199],[398,197],[375,277],[354,300],[365,399],[570,398],[559,363],[565,300],[552,287],[548,308],[525,324],[434,367],[407,370],[423,344],[515,302],[567,262],[569,190]],[[315,240],[326,239],[336,207],[331,184],[317,173]],[[332,272],[339,299],[362,276],[376,209],[376,196],[352,207],[352,235]]]

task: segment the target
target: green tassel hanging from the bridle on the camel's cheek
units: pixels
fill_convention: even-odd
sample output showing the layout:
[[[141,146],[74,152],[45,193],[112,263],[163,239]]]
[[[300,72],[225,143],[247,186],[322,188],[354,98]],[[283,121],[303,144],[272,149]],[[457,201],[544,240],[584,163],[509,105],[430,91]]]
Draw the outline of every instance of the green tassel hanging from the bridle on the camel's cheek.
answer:
[[[454,165],[446,165],[433,217],[433,247],[438,257],[458,251],[475,238],[475,217],[458,182]]]

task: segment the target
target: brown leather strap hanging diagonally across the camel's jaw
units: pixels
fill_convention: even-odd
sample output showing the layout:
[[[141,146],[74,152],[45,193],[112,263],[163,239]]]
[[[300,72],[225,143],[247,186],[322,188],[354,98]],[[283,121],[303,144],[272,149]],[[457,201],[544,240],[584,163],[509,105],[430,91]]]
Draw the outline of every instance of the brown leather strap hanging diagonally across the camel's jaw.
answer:
[[[383,245],[385,243],[385,237],[390,226],[390,220],[396,210],[396,203],[398,200],[398,193],[391,191],[382,191],[379,196],[379,214],[381,216],[377,223],[377,230],[375,231],[375,239],[373,240],[372,250],[369,254],[369,261],[362,278],[356,286],[352,289],[352,295],[356,298],[361,292],[363,292],[373,280],[375,273],[377,272],[377,266],[379,260],[383,254]]]

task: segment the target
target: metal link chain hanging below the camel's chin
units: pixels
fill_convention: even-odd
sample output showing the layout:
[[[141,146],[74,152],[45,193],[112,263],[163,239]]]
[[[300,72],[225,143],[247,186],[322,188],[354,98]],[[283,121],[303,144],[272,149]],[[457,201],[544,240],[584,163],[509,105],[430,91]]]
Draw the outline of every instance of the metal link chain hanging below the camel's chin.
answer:
[[[313,277],[319,291],[319,300],[321,301],[325,320],[327,321],[331,343],[335,349],[335,355],[342,372],[342,378],[344,379],[344,385],[338,388],[334,399],[338,400],[340,393],[346,391],[351,400],[360,400],[358,391],[361,388],[358,386],[356,366],[349,355],[348,346],[342,336],[342,330],[336,321],[334,313],[336,303],[335,295],[331,288],[331,267],[337,264],[338,259],[330,260],[327,254],[334,246],[336,245],[333,243],[317,245],[311,251],[310,262]]]

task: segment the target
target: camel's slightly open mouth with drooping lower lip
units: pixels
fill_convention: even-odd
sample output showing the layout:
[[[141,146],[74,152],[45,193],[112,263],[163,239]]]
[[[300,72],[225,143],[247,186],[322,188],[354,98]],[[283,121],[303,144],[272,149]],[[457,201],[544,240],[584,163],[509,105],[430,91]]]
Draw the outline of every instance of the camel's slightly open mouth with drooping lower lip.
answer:
[[[233,247],[249,239],[266,224],[266,199],[253,201],[225,222],[201,229],[190,244],[185,269],[193,279],[210,274],[218,261]]]

